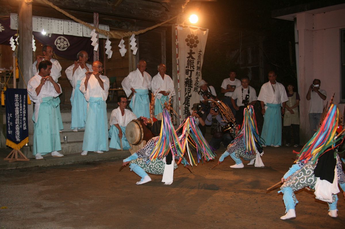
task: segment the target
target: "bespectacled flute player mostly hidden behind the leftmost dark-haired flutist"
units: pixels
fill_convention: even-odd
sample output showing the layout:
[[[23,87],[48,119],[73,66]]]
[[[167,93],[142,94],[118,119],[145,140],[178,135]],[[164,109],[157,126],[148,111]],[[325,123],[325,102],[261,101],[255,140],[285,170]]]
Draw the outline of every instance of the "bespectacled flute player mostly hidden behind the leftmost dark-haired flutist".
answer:
[[[36,73],[39,72],[38,65],[41,63],[41,61],[43,60],[50,61],[52,63],[50,76],[53,78],[55,83],[57,83],[59,77],[61,76],[62,67],[58,60],[53,59],[53,55],[54,55],[53,47],[48,44],[43,45],[42,53],[43,55],[37,56],[36,61],[33,62],[32,64],[32,74],[35,75]],[[60,97],[57,96],[56,98],[53,98],[53,101],[58,104],[58,106],[56,107],[56,112],[57,112],[57,117],[58,117],[59,130],[61,133],[62,132],[61,130],[63,129],[63,125],[62,125],[62,118],[61,118],[61,113],[60,113]]]

